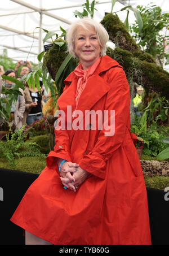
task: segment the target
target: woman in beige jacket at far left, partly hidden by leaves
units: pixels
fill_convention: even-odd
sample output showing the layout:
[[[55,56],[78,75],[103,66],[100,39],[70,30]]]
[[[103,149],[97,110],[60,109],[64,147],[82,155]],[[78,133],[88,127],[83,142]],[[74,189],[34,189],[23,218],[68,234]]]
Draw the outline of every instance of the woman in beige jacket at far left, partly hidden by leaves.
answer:
[[[10,69],[8,69],[3,75],[14,77],[14,78],[16,77],[15,70],[10,70]],[[7,89],[10,89],[13,86],[13,82],[9,80],[5,80],[4,86]],[[21,88],[19,88],[19,90],[22,93],[22,95],[18,96],[17,101],[12,102],[11,115],[10,115],[10,122],[11,124],[15,124],[15,127],[17,129],[23,126],[22,120],[23,120],[23,114],[25,111],[25,99],[23,96],[23,90]],[[3,94],[3,97],[8,99],[8,97],[5,94]]]

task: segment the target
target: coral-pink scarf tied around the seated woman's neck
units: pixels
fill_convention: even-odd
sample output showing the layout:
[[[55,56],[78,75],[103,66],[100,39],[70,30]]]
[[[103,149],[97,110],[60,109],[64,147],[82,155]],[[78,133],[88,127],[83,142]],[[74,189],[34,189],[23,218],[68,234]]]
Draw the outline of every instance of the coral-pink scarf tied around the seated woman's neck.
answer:
[[[82,64],[80,63],[77,68],[75,68],[74,73],[78,77],[77,90],[75,93],[75,103],[78,105],[79,97],[81,96],[82,91],[84,90],[87,80],[90,76],[93,75],[97,66],[99,66],[101,57],[99,57],[92,66],[87,68],[87,70],[83,70]]]

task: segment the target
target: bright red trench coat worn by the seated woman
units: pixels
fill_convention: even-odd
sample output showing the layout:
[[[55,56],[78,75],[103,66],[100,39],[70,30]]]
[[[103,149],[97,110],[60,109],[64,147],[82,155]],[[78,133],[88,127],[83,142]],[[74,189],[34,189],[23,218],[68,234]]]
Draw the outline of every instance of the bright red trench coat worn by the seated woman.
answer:
[[[67,106],[72,106],[73,112],[74,72],[65,85],[57,103],[65,113]],[[130,133],[129,86],[115,60],[101,59],[77,110],[84,114],[85,110],[115,110],[114,135],[105,136],[104,129],[92,127],[56,131],[47,167],[30,185],[11,221],[52,244],[151,244],[144,176]],[[70,118],[67,113],[65,117]],[[84,123],[84,117],[79,123]],[[78,163],[91,173],[77,192],[63,188],[57,157]]]

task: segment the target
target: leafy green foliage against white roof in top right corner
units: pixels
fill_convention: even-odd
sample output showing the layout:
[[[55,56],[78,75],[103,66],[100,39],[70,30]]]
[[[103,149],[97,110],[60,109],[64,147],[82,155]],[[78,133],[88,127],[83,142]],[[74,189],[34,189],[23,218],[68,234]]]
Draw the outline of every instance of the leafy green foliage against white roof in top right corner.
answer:
[[[163,66],[164,58],[169,56],[164,50],[169,39],[169,36],[167,36],[169,14],[162,14],[161,8],[155,5],[137,6],[137,10],[140,11],[143,28],[140,31],[136,21],[136,24],[130,27],[130,32],[143,50],[151,54],[155,59],[158,58],[159,63]],[[164,29],[166,29],[166,34],[163,36],[161,32]]]

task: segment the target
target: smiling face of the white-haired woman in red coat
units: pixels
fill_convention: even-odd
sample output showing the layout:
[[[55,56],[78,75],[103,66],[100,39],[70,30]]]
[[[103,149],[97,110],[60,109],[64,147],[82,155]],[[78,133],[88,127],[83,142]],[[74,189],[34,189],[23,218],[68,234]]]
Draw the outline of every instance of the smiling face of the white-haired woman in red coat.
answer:
[[[95,28],[90,25],[86,27],[88,30],[82,26],[77,28],[74,40],[74,52],[81,60],[83,70],[94,64],[102,49]]]

